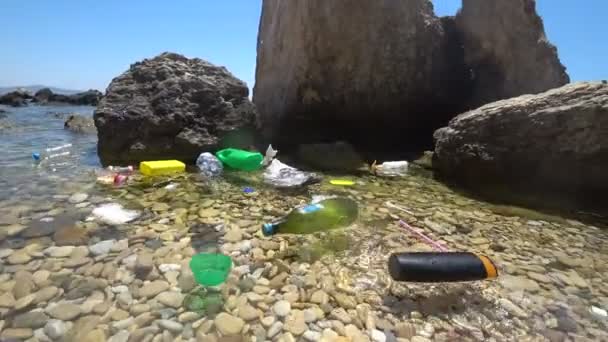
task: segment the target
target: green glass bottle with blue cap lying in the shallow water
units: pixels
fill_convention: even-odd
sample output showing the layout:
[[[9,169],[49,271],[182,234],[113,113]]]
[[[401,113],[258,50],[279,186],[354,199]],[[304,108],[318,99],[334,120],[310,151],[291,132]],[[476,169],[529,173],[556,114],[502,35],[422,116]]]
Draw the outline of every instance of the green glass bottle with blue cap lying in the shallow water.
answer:
[[[357,219],[357,202],[349,198],[330,198],[294,209],[287,216],[262,227],[264,235],[311,234],[346,227]]]

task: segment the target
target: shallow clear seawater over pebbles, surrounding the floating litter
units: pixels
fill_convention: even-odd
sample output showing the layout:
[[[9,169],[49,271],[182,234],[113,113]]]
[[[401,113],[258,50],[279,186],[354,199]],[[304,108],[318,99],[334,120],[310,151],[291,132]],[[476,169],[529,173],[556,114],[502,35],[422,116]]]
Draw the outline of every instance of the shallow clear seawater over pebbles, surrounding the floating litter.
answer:
[[[162,293],[156,298],[141,293],[150,291],[152,281],[168,284],[164,291],[173,295],[190,292],[184,280],[191,277],[190,256],[219,250],[230,255],[235,266],[222,287],[221,311],[246,319],[240,335],[257,336],[257,341],[288,341],[289,336],[302,340],[303,329],[333,336],[329,329],[353,341],[380,338],[379,333],[386,341],[608,340],[608,320],[601,313],[608,310],[608,231],[590,223],[480,202],[416,173],[401,179],[349,177],[357,182],[353,187],[332,186],[327,183],[332,176],[326,175],[323,183],[290,193],[263,185],[256,173],[234,173],[214,182],[195,173],[154,180],[134,177],[127,186],[113,188],[95,183],[96,137],[65,131],[64,120],[47,113],[90,115],[91,108],[9,110],[8,118],[0,119],[12,124],[0,130],[0,295],[24,295],[20,289],[28,275],[35,279],[30,292],[38,296],[51,291],[48,288],[61,291],[19,310],[0,300],[5,328],[18,326],[16,317],[23,312],[53,312],[53,303],[76,303],[82,313],[62,318],[74,323],[68,334],[72,340],[92,338],[87,334],[124,336],[126,330],[157,340],[181,336],[211,341],[227,334],[222,322],[200,313],[188,320],[183,318],[187,310],[159,298]],[[33,165],[33,151],[64,143],[74,146],[65,165]],[[256,191],[246,194],[245,186]],[[86,194],[86,199],[70,199],[77,193]],[[355,199],[360,205],[358,222],[320,235],[261,236],[262,223],[319,194]],[[387,201],[407,212],[387,206]],[[116,227],[86,221],[93,208],[107,202],[137,209],[142,216]],[[498,279],[458,284],[392,281],[386,271],[391,253],[431,250],[399,227],[397,218],[450,250],[489,256],[498,266]],[[62,229],[86,231],[86,238],[74,234],[66,239],[57,234]],[[52,257],[46,249],[63,240],[68,246],[96,246],[112,239],[125,239],[128,246],[114,242],[111,251],[99,255],[92,254],[97,247],[76,247],[66,255],[53,252]],[[155,269],[140,277],[133,263],[144,253],[154,255]],[[53,275],[44,278],[45,272]],[[125,289],[132,301],[121,294]],[[286,318],[273,309],[281,299],[291,302]],[[95,306],[101,303],[107,307]],[[299,310],[307,308],[323,314],[302,328]],[[600,311],[592,313],[592,308]],[[163,316],[145,320],[142,312]],[[139,317],[139,325],[122,327],[120,322],[129,317]],[[272,335],[274,324],[266,324],[264,317],[282,321],[280,332]],[[181,330],[160,318],[180,324]],[[32,334],[41,330],[32,329]]]

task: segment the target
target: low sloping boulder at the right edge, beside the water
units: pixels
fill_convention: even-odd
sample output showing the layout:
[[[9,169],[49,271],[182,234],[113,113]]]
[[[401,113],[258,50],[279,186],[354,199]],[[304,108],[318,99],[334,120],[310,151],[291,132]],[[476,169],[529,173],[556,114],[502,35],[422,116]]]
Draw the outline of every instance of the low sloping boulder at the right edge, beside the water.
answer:
[[[569,84],[457,116],[435,132],[433,167],[477,190],[507,191],[501,196],[605,205],[606,127],[608,85]]]

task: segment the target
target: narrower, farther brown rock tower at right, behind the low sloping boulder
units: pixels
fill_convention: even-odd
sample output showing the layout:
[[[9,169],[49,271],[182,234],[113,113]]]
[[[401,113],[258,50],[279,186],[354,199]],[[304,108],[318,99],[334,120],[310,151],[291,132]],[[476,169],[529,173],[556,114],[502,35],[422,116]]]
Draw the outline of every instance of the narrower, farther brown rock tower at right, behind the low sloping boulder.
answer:
[[[473,74],[473,108],[570,81],[535,0],[463,0],[456,26]]]

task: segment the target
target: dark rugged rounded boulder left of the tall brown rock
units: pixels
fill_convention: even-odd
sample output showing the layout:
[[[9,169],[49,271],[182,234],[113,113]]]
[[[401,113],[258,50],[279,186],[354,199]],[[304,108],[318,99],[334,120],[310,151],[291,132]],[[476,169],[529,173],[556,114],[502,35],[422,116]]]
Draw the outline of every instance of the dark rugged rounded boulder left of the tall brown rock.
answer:
[[[226,68],[198,58],[163,53],[135,63],[112,81],[95,111],[99,156],[104,163],[194,162],[230,133],[255,128],[248,93]]]

